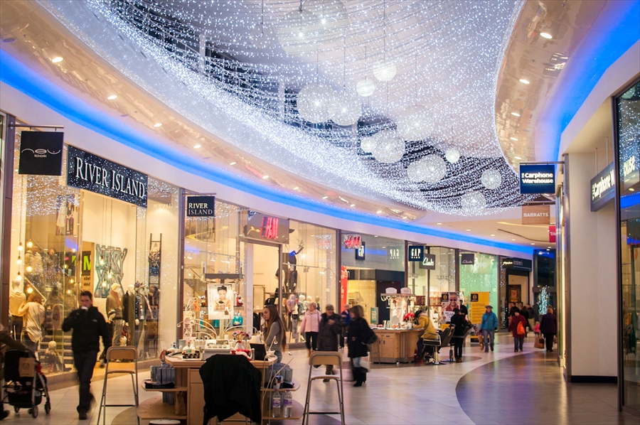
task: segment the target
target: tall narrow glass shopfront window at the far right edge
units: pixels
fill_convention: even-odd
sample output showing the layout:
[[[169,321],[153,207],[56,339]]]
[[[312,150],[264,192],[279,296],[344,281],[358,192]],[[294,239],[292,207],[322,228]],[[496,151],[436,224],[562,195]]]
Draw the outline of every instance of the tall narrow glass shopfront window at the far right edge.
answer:
[[[622,405],[640,411],[640,82],[616,99],[622,277]]]

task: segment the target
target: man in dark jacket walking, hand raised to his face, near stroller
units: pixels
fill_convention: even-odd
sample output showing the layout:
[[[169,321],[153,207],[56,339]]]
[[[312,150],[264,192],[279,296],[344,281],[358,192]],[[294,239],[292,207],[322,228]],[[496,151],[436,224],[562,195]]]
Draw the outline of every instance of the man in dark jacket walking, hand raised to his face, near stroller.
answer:
[[[78,419],[87,419],[87,411],[91,407],[93,395],[91,394],[91,378],[93,368],[100,351],[100,336],[105,350],[111,346],[111,338],[107,330],[107,323],[102,313],[93,306],[93,297],[90,291],[80,293],[80,308],[69,313],[63,323],[63,330],[68,332],[73,329],[71,338],[71,350],[73,351],[73,364],[78,370],[80,381],[80,402],[78,403]]]

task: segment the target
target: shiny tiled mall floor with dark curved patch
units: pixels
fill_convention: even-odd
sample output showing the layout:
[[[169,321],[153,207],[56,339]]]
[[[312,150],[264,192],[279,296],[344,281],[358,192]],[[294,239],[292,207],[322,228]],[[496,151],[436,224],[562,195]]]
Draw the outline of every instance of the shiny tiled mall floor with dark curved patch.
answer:
[[[347,424],[635,424],[637,418],[616,410],[616,386],[565,384],[554,355],[533,348],[528,338],[524,353],[513,353],[511,338],[500,335],[494,353],[466,346],[464,362],[452,365],[375,365],[361,388],[344,382]],[[288,358],[287,358],[288,357]],[[443,357],[447,357],[444,353]],[[292,351],[296,380],[303,382],[294,399],[304,404],[309,373],[306,351]],[[314,370],[321,373],[321,369]],[[345,375],[350,376],[348,370]],[[141,374],[142,382],[147,373]],[[92,385],[100,394],[102,380]],[[128,377],[110,380],[110,403],[128,403]],[[154,397],[140,392],[140,398]],[[75,405],[78,387],[51,392],[53,411],[32,419],[27,412],[11,415],[5,424],[96,424],[97,411],[89,421],[78,421]],[[315,382],[312,410],[336,409],[333,383]],[[10,408],[6,406],[6,408]],[[131,408],[111,408],[107,424],[134,424]],[[102,420],[101,420],[102,422]],[[291,422],[289,422],[291,423]],[[311,416],[311,424],[339,424],[338,416]],[[144,424],[144,422],[143,422]],[[200,425],[200,424],[196,424]]]

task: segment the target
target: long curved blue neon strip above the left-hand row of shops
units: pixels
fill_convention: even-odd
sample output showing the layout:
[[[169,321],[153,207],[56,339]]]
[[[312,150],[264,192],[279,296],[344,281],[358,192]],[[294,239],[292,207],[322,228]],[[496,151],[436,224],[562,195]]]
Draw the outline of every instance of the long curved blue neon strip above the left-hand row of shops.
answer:
[[[92,107],[90,104],[87,104],[78,97],[66,92],[58,85],[55,85],[53,82],[50,82],[50,80],[38,74],[38,72],[35,72],[1,49],[0,81],[16,88],[16,90],[23,92],[28,97],[41,102],[46,105],[46,107],[53,109],[55,112],[58,112],[82,127],[87,127],[88,129],[96,131],[109,139],[118,141],[125,146],[129,146],[146,155],[157,158],[171,166],[175,166],[181,170],[188,170],[189,173],[196,176],[201,176],[210,181],[214,181],[215,183],[220,183],[220,185],[226,185],[230,188],[242,190],[245,193],[250,193],[251,195],[259,196],[260,198],[265,198],[267,200],[272,200],[295,208],[302,208],[303,210],[319,212],[321,214],[330,215],[331,217],[341,218],[343,220],[362,222],[396,230],[405,230],[407,232],[414,232],[421,235],[442,237],[444,239],[468,242],[471,244],[481,244],[488,247],[511,249],[512,251],[523,252],[526,254],[533,253],[533,249],[523,247],[518,244],[485,240],[479,237],[462,235],[457,232],[447,232],[411,225],[409,223],[390,220],[384,217],[376,217],[362,212],[346,211],[342,208],[334,207],[333,205],[326,205],[316,200],[309,200],[297,195],[290,195],[289,193],[285,193],[280,190],[268,188],[260,183],[255,183],[247,178],[242,178],[230,173],[229,171],[225,171],[222,168],[209,166],[198,161],[196,158],[183,154],[182,152],[175,151],[174,149],[169,148],[169,146],[159,143],[153,138],[132,129],[132,127],[129,127],[126,124],[123,124],[118,119],[110,117],[108,114],[100,111],[100,109]]]

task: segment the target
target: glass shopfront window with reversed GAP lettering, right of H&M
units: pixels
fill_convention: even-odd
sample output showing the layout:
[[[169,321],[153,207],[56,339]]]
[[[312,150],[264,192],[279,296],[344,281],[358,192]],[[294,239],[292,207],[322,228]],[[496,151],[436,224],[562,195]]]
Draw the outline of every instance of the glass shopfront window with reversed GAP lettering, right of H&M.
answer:
[[[351,235],[343,232],[345,235]],[[349,305],[360,304],[369,323],[390,320],[390,309],[380,294],[387,288],[398,293],[405,286],[405,242],[387,237],[358,235],[361,249],[342,245],[342,266],[347,273],[347,300]],[[343,280],[344,285],[344,280]]]

